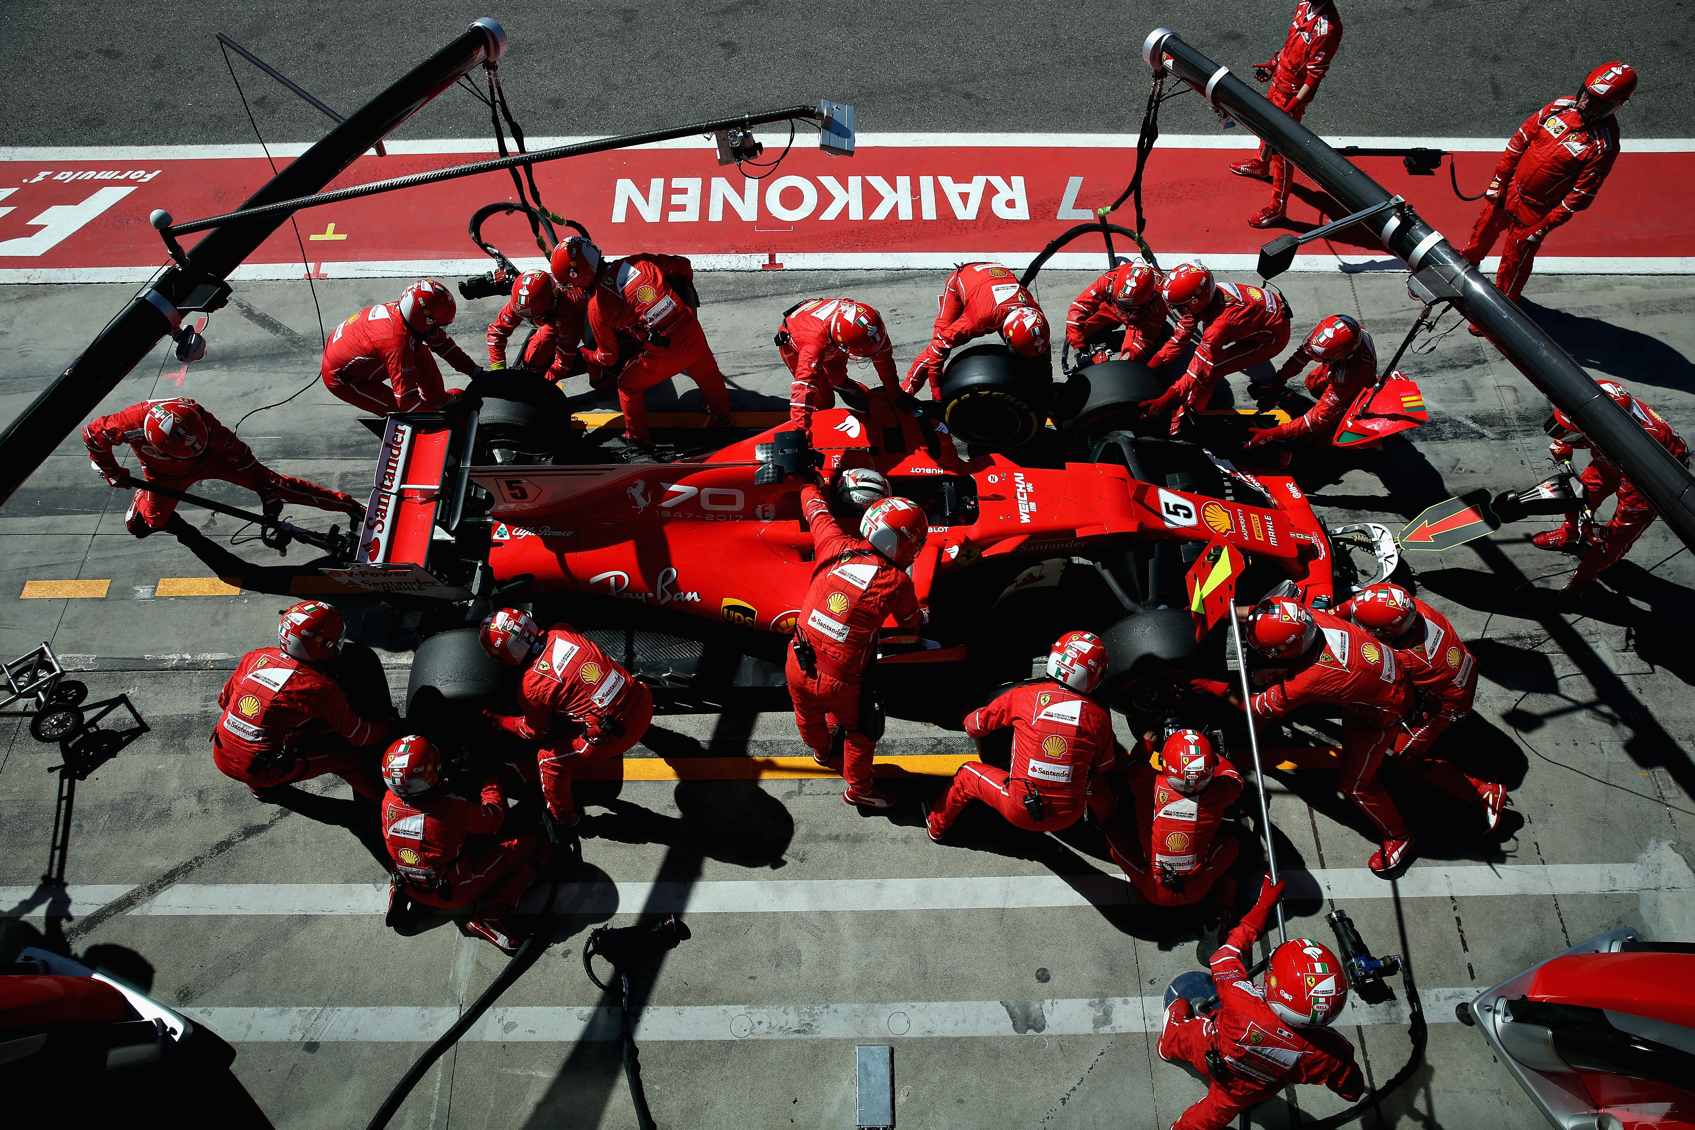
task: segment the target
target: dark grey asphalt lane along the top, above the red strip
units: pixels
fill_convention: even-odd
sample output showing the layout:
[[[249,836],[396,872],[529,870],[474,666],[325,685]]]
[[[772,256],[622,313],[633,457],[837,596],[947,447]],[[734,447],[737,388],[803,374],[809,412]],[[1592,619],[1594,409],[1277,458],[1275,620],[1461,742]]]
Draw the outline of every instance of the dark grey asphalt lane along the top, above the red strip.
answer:
[[[502,73],[532,136],[612,134],[815,102],[858,107],[868,132],[1136,132],[1141,44],[1168,25],[1249,75],[1283,42],[1292,3],[507,3],[344,5],[54,0],[7,5],[5,146],[251,142],[224,69],[225,32],[353,114],[478,12],[510,37]],[[1609,59],[1642,75],[1627,137],[1695,134],[1687,0],[1342,0],[1342,47],[1307,117],[1324,136],[1507,137]],[[268,141],[314,141],[325,120],[236,59]],[[1166,132],[1219,129],[1198,98]],[[398,137],[481,137],[470,95],[437,100]],[[770,141],[770,139],[768,139]]]

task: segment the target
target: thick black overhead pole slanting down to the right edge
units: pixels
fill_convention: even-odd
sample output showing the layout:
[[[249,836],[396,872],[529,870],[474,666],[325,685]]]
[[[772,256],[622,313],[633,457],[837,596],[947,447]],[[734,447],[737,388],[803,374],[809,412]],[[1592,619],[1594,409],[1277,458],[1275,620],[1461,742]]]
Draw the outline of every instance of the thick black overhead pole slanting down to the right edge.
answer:
[[[1168,27],[1154,29],[1142,44],[1142,59],[1193,86],[1220,114],[1270,142],[1295,163],[1348,212],[1385,203],[1390,193],[1354,168],[1336,149],[1302,127],[1263,95],[1183,42]],[[1414,283],[1431,298],[1453,298],[1483,335],[1524,373],[1542,395],[1583,430],[1595,447],[1629,476],[1666,525],[1695,546],[1695,476],[1666,454],[1595,381],[1519,310],[1495,285],[1410,205],[1373,220],[1368,227],[1383,246],[1407,261]]]

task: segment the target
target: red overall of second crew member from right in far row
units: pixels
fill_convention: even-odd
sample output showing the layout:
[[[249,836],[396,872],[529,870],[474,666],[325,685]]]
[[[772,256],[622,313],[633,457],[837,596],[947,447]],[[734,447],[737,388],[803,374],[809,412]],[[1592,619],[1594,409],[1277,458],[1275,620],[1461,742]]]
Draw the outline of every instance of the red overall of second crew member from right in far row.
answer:
[[[1270,361],[1288,344],[1288,303],[1275,290],[1248,283],[1219,283],[1212,302],[1198,315],[1178,317],[1176,332],[1149,361],[1149,369],[1159,369],[1183,349],[1183,344],[1202,329],[1200,344],[1188,363],[1188,373],[1178,378],[1163,396],[1148,402],[1153,415],[1175,412],[1171,429],[1183,412],[1200,412],[1212,400],[1212,386],[1227,373]]]

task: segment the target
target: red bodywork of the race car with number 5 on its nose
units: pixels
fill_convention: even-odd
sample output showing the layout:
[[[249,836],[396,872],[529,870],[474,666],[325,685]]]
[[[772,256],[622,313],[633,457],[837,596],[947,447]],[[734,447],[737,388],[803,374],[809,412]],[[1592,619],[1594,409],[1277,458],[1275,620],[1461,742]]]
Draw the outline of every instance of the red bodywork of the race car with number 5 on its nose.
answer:
[[[686,463],[475,469],[471,478],[497,500],[495,579],[527,573],[534,591],[593,591],[788,632],[812,578],[812,534],[802,529],[793,478],[754,483],[754,449],[776,430]],[[827,471],[875,466],[897,495],[949,476],[973,481],[961,493],[975,493],[976,520],[931,527],[914,564],[920,600],[981,557],[1088,556],[1119,537],[1224,539],[1276,559],[1303,601],[1331,595],[1329,542],[1287,476],[1258,476],[1276,505],[1261,510],[1141,483],[1110,464],[964,463],[942,425],[898,410],[880,391],[866,413],[817,413],[814,437]]]

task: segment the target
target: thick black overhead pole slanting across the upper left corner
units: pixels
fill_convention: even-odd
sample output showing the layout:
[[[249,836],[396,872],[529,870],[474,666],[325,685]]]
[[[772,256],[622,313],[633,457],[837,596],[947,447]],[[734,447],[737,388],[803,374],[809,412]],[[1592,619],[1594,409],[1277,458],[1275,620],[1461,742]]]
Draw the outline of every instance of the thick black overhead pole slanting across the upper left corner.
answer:
[[[290,200],[319,191],[342,169],[424,108],[461,75],[480,63],[500,58],[507,34],[492,19],[480,19],[376,95],[359,112],[332,129],[288,168],[271,178],[247,207]],[[188,251],[183,264],[170,268],[159,281],[136,296],[110,325],[0,434],[0,503],[34,474],[53,449],[83,422],[100,400],[117,388],[136,364],[173,332],[183,313],[217,308],[227,300],[224,280],[288,219],[276,212],[219,227]]]

